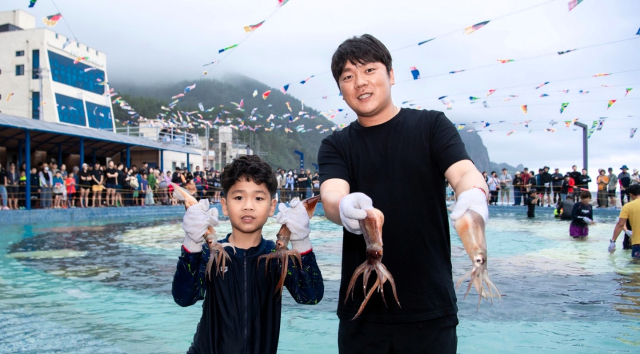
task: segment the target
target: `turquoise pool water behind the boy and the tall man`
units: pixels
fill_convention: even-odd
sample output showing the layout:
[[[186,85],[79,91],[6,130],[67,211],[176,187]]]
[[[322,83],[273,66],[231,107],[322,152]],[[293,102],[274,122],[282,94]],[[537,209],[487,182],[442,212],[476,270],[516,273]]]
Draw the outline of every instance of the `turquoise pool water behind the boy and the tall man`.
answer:
[[[4,227],[0,353],[186,352],[202,308],[171,297],[180,221]],[[640,265],[620,241],[607,253],[614,221],[596,218],[589,238],[576,241],[567,222],[549,216],[493,215],[489,272],[504,297],[477,311],[473,290],[465,301],[458,291],[458,351],[640,352]],[[264,234],[278,228],[270,220]],[[282,353],[337,352],[341,228],[314,217],[311,229],[325,296],[302,306],[285,292]],[[455,279],[470,268],[455,231],[452,260]]]

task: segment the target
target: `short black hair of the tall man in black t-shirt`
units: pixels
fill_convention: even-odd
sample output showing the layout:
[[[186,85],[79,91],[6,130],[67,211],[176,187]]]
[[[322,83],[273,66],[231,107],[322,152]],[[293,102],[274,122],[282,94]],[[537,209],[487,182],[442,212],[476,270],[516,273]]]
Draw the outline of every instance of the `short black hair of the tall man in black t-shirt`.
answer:
[[[376,37],[370,34],[352,37],[342,42],[331,58],[331,73],[340,86],[340,75],[344,66],[350,62],[353,65],[382,63],[391,72],[391,53]]]

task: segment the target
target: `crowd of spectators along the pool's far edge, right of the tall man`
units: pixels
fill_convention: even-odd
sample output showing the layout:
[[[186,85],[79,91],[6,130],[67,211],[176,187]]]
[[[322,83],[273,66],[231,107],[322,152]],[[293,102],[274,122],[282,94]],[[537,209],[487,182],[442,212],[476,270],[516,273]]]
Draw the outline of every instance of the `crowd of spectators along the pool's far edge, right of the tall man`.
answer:
[[[640,184],[640,175],[638,169],[630,174],[627,165],[620,170],[622,172],[618,174],[612,167],[598,170],[599,175],[595,180],[598,186],[597,208],[617,208],[618,199],[622,206],[630,201],[627,189],[630,185]],[[559,168],[551,173],[547,166],[538,169],[537,174],[526,167],[522,172],[516,171],[515,176],[511,176],[506,168],[502,169],[500,175],[496,171],[491,171],[490,175],[487,172],[482,174],[489,186],[490,205],[527,205],[527,197],[531,194],[535,194],[537,206],[555,207],[567,198],[578,202],[580,192],[588,190],[589,183],[592,182],[587,170],[578,171],[576,165],[573,165],[572,171],[564,174],[560,173]]]

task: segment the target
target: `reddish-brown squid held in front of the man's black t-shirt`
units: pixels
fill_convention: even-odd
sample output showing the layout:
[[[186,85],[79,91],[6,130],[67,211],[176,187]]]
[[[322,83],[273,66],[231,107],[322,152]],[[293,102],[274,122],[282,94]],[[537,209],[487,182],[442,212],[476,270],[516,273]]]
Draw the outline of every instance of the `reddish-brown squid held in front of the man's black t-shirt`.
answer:
[[[362,235],[364,236],[364,240],[367,244],[367,260],[362,263],[358,268],[356,268],[353,276],[351,277],[351,281],[349,282],[349,287],[347,288],[347,296],[345,297],[345,304],[347,300],[349,300],[349,294],[351,294],[351,299],[353,300],[353,292],[355,288],[355,283],[360,274],[363,275],[362,278],[362,290],[364,291],[365,298],[358,309],[356,315],[351,319],[355,320],[362,314],[362,310],[364,310],[367,302],[373,295],[374,290],[377,290],[382,296],[382,301],[384,301],[385,306],[387,305],[387,300],[384,298],[384,283],[389,281],[391,284],[391,289],[393,290],[393,297],[400,306],[400,301],[398,301],[398,293],[396,292],[396,283],[393,280],[393,276],[387,270],[387,267],[382,264],[382,224],[384,223],[384,215],[378,209],[370,209],[366,210],[367,217],[363,220],[360,220],[360,230],[362,230]],[[369,282],[369,276],[371,273],[376,273],[376,282],[373,284],[369,292],[367,292],[367,284]],[[401,306],[400,306],[401,307]],[[401,307],[402,308],[402,307]]]

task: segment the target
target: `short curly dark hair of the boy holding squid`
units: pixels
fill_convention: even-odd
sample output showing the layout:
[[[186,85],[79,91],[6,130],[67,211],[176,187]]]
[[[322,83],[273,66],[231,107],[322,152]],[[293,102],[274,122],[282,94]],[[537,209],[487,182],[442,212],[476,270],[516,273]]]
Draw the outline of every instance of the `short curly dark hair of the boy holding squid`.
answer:
[[[224,167],[224,172],[220,175],[224,195],[228,195],[231,187],[243,179],[258,185],[264,183],[271,198],[276,195],[278,183],[275,174],[271,166],[256,155],[240,156]]]

